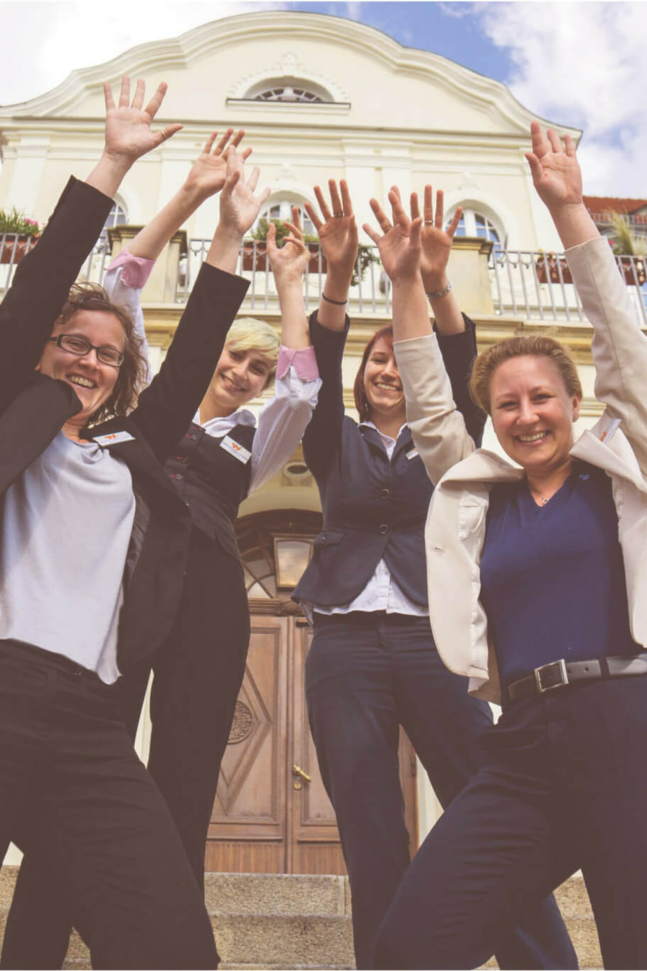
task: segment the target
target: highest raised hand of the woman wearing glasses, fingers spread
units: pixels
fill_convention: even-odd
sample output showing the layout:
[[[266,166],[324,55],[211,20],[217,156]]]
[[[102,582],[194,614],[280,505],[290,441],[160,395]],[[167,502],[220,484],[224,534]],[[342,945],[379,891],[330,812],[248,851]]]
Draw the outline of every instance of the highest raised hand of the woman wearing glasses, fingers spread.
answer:
[[[158,84],[152,98],[143,108],[146,85],[138,81],[132,104],[130,103],[130,79],[121,81],[119,104],[114,104],[113,88],[109,82],[104,84],[106,98],[106,147],[104,152],[109,158],[126,163],[128,167],[146,151],[157,148],[171,138],[182,127],[169,124],[158,131],[152,131],[152,119],[159,111],[164,100],[167,85]]]

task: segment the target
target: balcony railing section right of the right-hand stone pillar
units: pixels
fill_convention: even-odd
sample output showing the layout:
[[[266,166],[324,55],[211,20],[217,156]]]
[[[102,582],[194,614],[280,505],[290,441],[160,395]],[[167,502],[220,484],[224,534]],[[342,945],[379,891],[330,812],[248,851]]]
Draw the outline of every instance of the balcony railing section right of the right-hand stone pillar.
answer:
[[[616,256],[641,327],[647,327],[647,260]],[[555,323],[586,323],[563,253],[493,250],[488,262],[495,314]]]

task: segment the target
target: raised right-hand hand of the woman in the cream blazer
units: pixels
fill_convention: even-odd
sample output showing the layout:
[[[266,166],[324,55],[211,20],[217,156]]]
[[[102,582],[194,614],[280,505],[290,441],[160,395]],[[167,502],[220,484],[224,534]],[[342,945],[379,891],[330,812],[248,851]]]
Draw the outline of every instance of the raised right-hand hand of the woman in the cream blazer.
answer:
[[[537,121],[531,124],[531,135],[533,151],[527,151],[526,158],[539,198],[551,211],[581,205],[582,173],[570,135],[566,135],[563,146],[552,128],[544,132]]]

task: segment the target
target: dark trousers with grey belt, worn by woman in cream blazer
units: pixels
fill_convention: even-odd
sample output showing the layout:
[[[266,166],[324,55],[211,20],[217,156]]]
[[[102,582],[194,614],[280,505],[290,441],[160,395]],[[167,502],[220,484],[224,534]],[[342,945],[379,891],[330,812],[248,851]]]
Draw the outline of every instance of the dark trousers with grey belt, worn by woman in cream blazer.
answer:
[[[647,967],[646,738],[644,676],[511,705],[411,863],[376,966],[476,967],[510,921],[581,868],[604,967]]]

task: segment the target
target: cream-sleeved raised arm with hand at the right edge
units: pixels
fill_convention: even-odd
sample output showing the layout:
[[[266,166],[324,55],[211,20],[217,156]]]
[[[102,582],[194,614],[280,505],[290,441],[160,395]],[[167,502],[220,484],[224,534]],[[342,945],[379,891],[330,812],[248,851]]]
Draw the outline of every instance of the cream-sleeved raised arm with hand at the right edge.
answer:
[[[534,186],[562,238],[573,283],[594,328],[596,396],[621,419],[643,475],[647,475],[647,337],[641,332],[629,290],[608,241],[586,211],[575,146],[562,145],[533,122],[533,151],[526,157]]]

